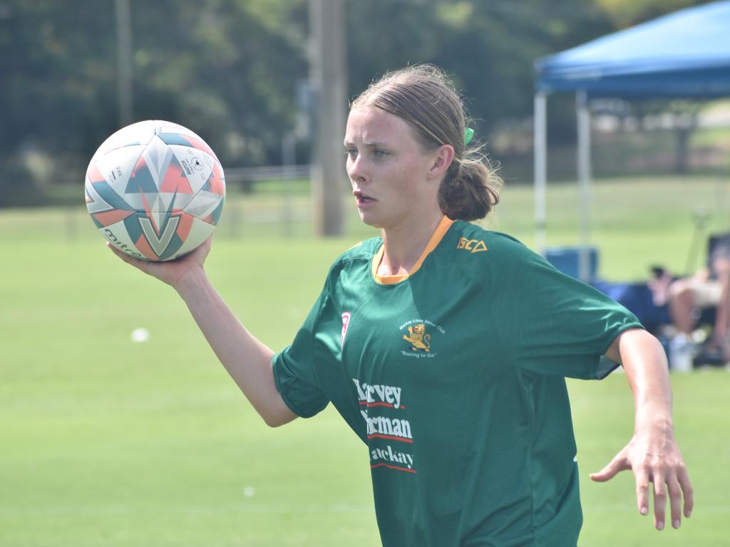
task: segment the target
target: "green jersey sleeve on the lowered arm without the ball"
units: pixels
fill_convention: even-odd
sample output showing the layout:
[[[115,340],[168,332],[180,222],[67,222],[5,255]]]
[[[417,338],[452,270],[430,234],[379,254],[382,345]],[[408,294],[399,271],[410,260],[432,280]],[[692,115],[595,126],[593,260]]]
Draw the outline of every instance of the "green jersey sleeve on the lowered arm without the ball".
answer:
[[[643,328],[637,317],[521,244],[510,247],[514,256],[501,278],[502,334],[518,366],[570,378],[607,376],[618,363],[602,356],[624,330]]]

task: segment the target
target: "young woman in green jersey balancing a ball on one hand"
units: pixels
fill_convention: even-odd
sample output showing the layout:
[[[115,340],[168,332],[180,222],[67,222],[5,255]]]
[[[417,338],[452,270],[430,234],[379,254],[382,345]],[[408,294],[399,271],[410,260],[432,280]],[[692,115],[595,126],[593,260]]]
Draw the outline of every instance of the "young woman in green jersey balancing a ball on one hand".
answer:
[[[368,447],[385,546],[575,546],[564,378],[599,379],[616,363],[634,392],[634,436],[591,478],[631,469],[639,512],[651,483],[656,527],[667,493],[679,527],[692,489],[661,345],[601,293],[469,223],[498,201],[471,134],[432,66],[387,74],[353,102],[347,174],[363,222],[382,237],[331,266],[283,352],[247,333],[211,286],[210,241],[172,263],[117,254],[180,293],[267,424],[337,408]]]

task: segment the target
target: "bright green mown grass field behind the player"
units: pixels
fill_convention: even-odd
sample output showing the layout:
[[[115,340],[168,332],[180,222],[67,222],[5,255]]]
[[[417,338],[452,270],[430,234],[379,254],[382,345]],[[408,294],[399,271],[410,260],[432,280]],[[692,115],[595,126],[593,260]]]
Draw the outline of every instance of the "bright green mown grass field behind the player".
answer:
[[[707,211],[708,231],[730,229],[726,184],[596,185],[602,275],[644,279],[651,263],[683,271],[693,212]],[[489,224],[531,244],[531,198],[508,184]],[[293,200],[306,217],[307,200]],[[292,238],[280,223],[247,222],[279,209],[270,196],[231,198],[207,266],[242,322],[275,349],[291,341],[331,260],[371,233],[351,214],[350,236],[328,240],[312,238],[306,220]],[[576,224],[575,187],[551,188],[548,242],[577,242]],[[183,303],[116,260],[82,209],[0,212],[0,249],[0,546],[379,545],[368,457],[339,416],[328,409],[267,428]],[[131,341],[137,327],[149,341]],[[581,546],[730,544],[730,374],[672,380],[696,510],[664,532],[638,515],[631,476],[588,480],[630,438],[623,375],[569,382]]]

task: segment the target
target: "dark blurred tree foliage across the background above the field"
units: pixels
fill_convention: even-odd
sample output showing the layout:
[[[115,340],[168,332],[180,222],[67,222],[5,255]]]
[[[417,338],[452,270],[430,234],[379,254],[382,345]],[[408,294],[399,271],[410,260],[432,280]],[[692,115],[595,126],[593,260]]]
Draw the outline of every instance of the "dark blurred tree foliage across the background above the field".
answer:
[[[536,58],[702,3],[344,1],[350,96],[385,71],[437,63],[464,90],[481,136],[531,115]],[[224,165],[279,161],[309,70],[307,1],[128,2],[134,119],[187,125]],[[119,128],[116,25],[115,0],[0,0],[0,186],[34,173],[37,182],[79,179]],[[558,122],[571,111],[569,101],[551,106]],[[34,157],[56,168],[36,172]]]

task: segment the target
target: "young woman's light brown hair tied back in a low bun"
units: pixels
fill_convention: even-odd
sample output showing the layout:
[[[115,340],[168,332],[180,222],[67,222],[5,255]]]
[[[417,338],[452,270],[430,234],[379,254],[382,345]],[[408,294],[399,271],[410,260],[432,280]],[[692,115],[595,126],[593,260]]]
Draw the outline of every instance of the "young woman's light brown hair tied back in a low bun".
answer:
[[[439,207],[452,220],[477,220],[499,203],[502,179],[481,146],[464,144],[466,114],[446,74],[433,65],[408,66],[384,74],[350,104],[377,106],[405,120],[426,150],[444,144],[454,159],[439,187]]]

